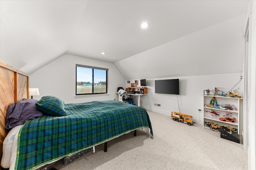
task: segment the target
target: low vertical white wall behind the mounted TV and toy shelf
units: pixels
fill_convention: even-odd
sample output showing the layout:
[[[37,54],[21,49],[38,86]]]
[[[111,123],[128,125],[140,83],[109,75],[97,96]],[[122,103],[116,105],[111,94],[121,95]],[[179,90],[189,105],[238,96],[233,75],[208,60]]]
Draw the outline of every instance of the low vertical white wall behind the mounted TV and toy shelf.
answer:
[[[204,107],[202,95],[204,90],[214,90],[216,87],[218,90],[228,92],[230,90],[234,90],[235,88],[240,88],[239,91],[242,95],[242,80],[240,81],[240,75],[241,73],[237,72],[226,74],[147,79],[146,84],[148,88],[148,94],[144,95],[144,102],[142,107],[150,111],[155,111],[157,113],[162,113],[169,116],[171,111],[185,113],[192,115],[193,119],[198,123],[200,120],[200,124],[202,124]],[[179,78],[180,80],[180,95],[155,93],[154,80],[175,78]],[[154,104],[161,104],[161,107],[154,106]],[[201,109],[202,111],[198,111],[198,109]]]

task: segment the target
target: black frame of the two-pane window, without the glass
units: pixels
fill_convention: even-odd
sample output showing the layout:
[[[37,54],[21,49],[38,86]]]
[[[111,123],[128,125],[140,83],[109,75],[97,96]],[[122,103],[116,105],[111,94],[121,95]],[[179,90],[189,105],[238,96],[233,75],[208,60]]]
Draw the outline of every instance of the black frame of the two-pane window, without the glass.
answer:
[[[77,67],[91,68],[92,69],[92,93],[77,94]],[[106,71],[106,92],[94,93],[94,69],[105,70]],[[81,96],[81,95],[97,95],[97,94],[107,94],[107,93],[108,93],[108,68],[76,64],[76,96]]]

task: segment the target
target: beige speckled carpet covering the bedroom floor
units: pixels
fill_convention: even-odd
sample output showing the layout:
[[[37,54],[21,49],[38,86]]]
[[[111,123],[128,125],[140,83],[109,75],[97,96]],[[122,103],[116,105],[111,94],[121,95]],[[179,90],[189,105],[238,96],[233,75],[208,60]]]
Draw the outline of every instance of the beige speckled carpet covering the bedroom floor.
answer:
[[[148,111],[154,139],[143,131],[122,135],[96,146],[81,158],[57,170],[247,170],[247,152],[200,124],[188,126],[169,116]]]

